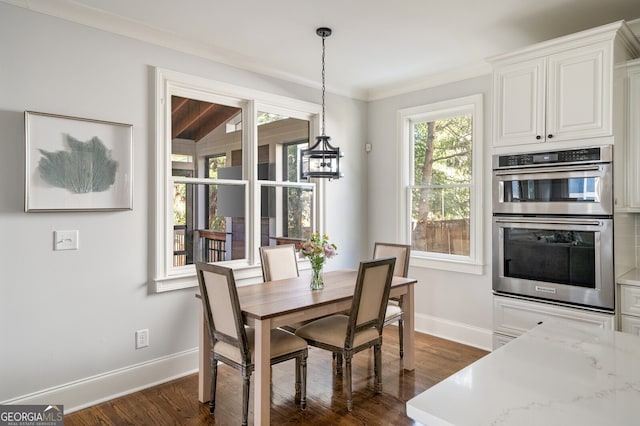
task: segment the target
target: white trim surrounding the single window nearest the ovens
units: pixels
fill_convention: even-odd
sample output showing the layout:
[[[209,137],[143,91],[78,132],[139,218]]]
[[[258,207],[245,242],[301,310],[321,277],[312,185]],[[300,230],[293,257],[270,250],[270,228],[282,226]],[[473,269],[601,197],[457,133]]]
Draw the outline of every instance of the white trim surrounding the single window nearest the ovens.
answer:
[[[450,99],[418,107],[405,108],[398,111],[398,140],[401,144],[398,182],[400,194],[401,214],[399,220],[399,235],[401,241],[411,242],[411,207],[410,185],[412,176],[409,165],[413,161],[412,149],[412,121],[436,120],[443,117],[452,117],[460,114],[473,115],[473,154],[472,154],[472,186],[470,209],[470,254],[469,256],[452,256],[439,253],[411,253],[411,266],[442,269],[469,274],[484,273],[483,255],[483,113],[482,94]]]

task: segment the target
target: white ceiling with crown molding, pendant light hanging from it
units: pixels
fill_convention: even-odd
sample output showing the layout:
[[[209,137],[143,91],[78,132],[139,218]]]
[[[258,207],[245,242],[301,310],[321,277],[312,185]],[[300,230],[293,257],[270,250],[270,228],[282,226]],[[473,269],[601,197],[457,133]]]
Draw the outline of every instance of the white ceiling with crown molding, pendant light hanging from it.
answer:
[[[640,18],[638,0],[0,0],[225,64],[375,99],[488,72],[484,58]],[[636,34],[638,32],[636,31]]]

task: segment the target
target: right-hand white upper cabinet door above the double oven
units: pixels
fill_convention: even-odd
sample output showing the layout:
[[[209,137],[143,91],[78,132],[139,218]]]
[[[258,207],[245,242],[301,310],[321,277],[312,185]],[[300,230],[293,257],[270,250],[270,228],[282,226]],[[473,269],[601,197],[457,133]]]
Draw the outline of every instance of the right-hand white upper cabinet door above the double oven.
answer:
[[[548,57],[547,142],[612,134],[609,43]]]

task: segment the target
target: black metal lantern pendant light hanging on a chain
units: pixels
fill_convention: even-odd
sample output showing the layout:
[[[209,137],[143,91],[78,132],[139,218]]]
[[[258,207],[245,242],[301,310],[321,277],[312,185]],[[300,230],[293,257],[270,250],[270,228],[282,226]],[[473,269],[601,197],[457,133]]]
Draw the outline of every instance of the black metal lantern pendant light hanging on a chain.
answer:
[[[324,40],[331,35],[331,28],[318,28],[316,34],[322,37],[322,134],[316,136],[316,143],[312,147],[300,151],[300,177],[302,179],[339,179],[342,177],[340,173],[340,158],[344,154],[340,152],[340,148],[334,147],[329,143],[331,137],[324,132]]]

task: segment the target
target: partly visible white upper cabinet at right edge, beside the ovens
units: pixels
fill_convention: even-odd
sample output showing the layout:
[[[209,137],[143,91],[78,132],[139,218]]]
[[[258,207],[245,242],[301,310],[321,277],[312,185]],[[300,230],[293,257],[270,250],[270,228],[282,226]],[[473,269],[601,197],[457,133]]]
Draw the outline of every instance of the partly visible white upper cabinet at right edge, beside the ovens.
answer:
[[[627,63],[627,140],[625,155],[624,205],[640,212],[640,60]]]

